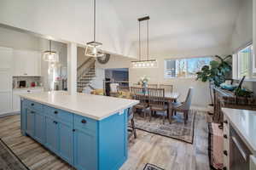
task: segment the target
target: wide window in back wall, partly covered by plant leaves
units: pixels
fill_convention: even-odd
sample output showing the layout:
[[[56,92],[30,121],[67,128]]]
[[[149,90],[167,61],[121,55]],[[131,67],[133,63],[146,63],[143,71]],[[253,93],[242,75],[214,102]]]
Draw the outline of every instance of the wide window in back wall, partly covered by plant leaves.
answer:
[[[212,57],[191,59],[165,59],[165,78],[195,77],[204,65],[210,65]]]

